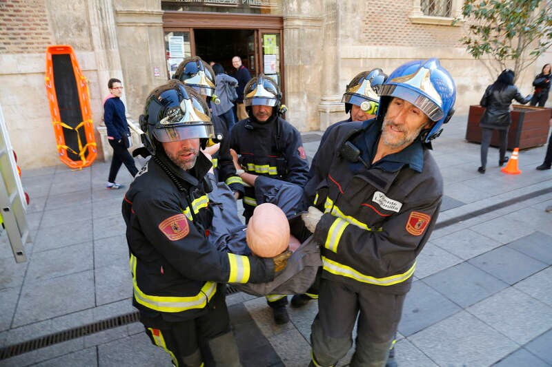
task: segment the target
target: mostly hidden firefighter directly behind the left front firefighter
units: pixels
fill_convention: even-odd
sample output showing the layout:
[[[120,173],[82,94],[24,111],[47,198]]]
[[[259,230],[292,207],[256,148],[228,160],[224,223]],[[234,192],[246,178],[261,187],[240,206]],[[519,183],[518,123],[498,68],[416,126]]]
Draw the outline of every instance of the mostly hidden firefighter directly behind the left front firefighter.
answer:
[[[192,87],[196,92],[206,98],[208,103],[217,103],[215,95],[215,72],[199,56],[188,57],[184,59],[177,68],[173,78],[178,79],[188,87]],[[211,115],[211,122],[215,129],[215,138],[208,142],[220,142],[221,145],[217,153],[213,155],[213,167],[215,168],[215,177],[219,182],[224,182],[234,192],[236,199],[244,195],[244,182],[236,175],[236,171],[230,157],[228,148],[228,128],[226,123],[219,116]]]

